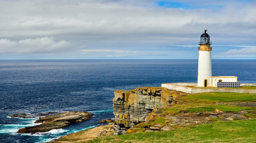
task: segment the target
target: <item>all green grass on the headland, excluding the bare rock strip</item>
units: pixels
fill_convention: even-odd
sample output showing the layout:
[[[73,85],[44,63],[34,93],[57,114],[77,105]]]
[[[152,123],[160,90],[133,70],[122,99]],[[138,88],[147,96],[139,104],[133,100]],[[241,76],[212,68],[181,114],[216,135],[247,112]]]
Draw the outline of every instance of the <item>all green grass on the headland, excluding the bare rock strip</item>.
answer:
[[[203,112],[216,109],[237,113],[246,110],[246,116],[255,118],[256,107],[231,106],[231,102],[256,102],[256,94],[249,93],[198,93],[178,98],[182,104],[173,104],[163,108],[159,116],[151,122],[136,125],[141,133],[109,136],[81,143],[256,143],[256,119],[218,121],[197,126],[187,126],[170,131],[143,132],[153,124],[165,125],[164,115],[175,115],[181,112]],[[216,104],[226,102],[227,104]],[[181,126],[182,127],[182,126]]]

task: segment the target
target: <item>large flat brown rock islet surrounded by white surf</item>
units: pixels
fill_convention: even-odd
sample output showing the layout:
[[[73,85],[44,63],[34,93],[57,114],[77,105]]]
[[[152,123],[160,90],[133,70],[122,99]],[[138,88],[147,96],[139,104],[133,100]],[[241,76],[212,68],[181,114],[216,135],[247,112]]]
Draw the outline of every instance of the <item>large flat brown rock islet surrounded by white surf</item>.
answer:
[[[94,114],[84,111],[72,111],[47,115],[46,117],[40,117],[35,121],[35,123],[42,124],[21,128],[18,130],[18,133],[34,134],[36,132],[48,132],[53,129],[66,128],[69,124],[89,120],[92,115]]]

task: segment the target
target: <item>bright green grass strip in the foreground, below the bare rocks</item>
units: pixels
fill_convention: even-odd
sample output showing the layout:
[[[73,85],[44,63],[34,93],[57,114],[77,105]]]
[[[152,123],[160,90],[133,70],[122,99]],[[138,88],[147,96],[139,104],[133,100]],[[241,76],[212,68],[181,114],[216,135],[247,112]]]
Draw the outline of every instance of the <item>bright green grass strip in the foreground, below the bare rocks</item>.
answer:
[[[109,136],[80,143],[255,143],[256,119],[217,121],[170,131]]]

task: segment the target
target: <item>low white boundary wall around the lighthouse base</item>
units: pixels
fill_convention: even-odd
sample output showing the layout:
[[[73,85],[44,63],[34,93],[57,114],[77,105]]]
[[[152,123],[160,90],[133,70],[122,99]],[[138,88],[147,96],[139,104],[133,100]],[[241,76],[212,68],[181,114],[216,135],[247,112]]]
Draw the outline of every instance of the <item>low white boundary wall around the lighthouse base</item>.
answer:
[[[256,94],[256,89],[231,89],[231,88],[191,88],[186,86],[196,86],[197,83],[170,83],[161,84],[161,87],[177,90],[185,93],[206,93],[206,92],[230,92],[230,93],[253,93]],[[256,86],[256,84],[241,84]]]

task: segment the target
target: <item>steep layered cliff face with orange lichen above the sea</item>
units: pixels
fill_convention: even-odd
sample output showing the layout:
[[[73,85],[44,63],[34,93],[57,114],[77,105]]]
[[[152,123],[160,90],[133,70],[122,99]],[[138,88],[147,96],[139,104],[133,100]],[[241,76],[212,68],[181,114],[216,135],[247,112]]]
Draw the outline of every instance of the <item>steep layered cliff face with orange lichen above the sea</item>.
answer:
[[[139,87],[130,91],[114,92],[113,110],[115,134],[125,134],[126,130],[147,121],[149,113],[172,104],[179,95],[162,87]]]

